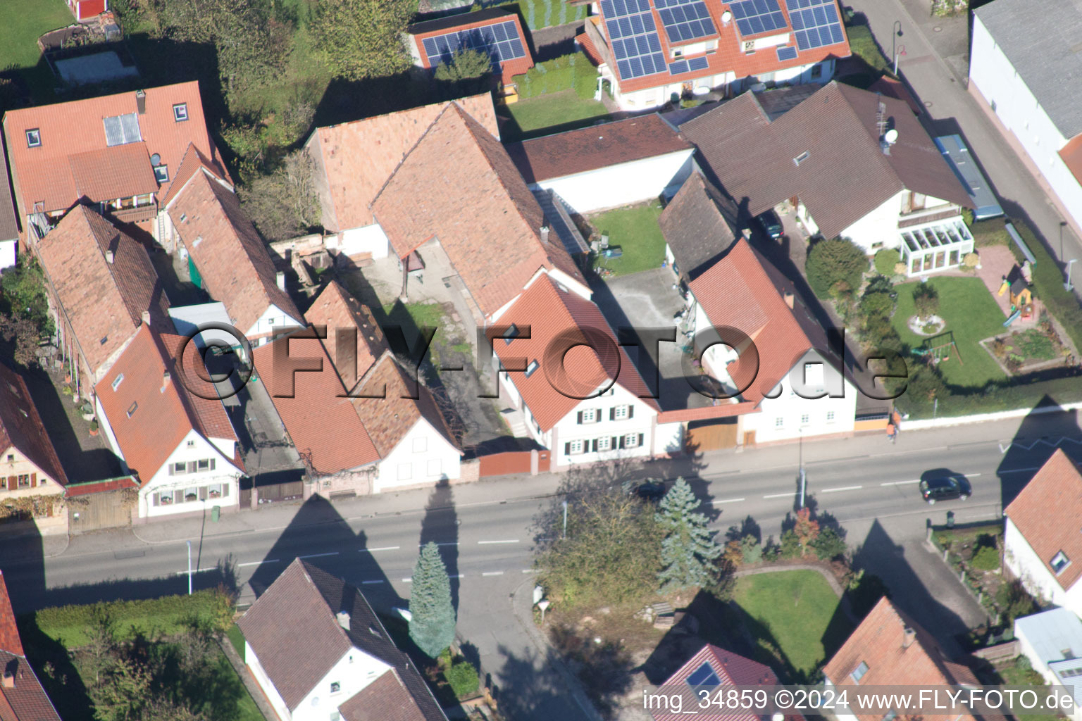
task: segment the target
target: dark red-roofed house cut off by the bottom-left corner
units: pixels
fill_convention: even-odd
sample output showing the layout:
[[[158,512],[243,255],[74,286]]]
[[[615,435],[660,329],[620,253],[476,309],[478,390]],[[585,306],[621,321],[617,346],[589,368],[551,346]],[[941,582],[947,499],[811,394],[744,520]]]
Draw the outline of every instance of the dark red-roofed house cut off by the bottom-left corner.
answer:
[[[18,637],[8,585],[0,574],[0,719],[3,721],[61,721],[41,686]]]

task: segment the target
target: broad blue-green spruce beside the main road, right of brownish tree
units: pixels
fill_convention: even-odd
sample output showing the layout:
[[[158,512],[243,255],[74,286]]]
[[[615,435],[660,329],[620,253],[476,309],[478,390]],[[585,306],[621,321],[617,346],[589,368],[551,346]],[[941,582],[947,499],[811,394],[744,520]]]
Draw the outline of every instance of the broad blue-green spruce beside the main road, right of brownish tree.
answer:
[[[707,528],[707,517],[696,510],[698,507],[699,499],[683,478],[676,479],[658,506],[656,519],[665,534],[658,573],[662,593],[709,587],[717,580],[715,561],[723,549],[714,540],[714,532]]]

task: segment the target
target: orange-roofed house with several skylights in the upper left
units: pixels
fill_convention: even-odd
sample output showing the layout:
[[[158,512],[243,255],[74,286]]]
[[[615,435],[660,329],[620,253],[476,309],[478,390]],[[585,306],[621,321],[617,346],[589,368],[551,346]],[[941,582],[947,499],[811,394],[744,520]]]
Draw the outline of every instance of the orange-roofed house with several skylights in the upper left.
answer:
[[[31,244],[78,202],[158,237],[161,199],[189,146],[226,172],[196,81],[9,110],[3,134]]]

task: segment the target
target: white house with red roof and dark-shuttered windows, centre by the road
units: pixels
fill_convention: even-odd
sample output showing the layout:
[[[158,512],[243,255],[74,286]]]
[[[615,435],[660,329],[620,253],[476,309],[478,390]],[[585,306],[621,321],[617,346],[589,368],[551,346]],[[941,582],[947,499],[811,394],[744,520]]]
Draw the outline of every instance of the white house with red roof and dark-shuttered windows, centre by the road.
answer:
[[[682,450],[679,423],[660,408],[597,306],[541,276],[491,326],[501,397],[525,415],[552,467]]]

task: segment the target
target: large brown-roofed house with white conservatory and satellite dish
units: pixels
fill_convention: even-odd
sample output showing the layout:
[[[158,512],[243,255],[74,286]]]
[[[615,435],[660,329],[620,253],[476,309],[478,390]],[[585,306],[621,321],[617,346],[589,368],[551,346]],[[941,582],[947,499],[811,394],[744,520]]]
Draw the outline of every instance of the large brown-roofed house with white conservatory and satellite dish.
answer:
[[[973,201],[905,102],[830,82],[780,115],[744,93],[679,125],[747,223],[792,212],[808,235],[895,248],[910,276],[958,267]],[[784,107],[788,104],[781,104]]]

